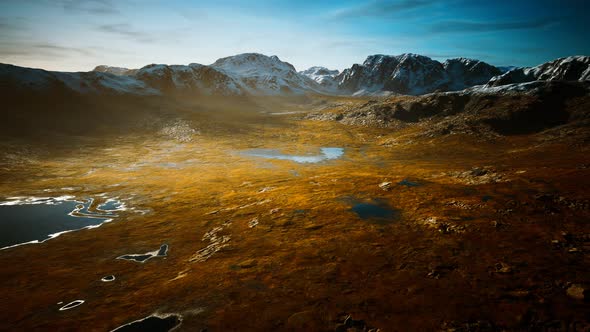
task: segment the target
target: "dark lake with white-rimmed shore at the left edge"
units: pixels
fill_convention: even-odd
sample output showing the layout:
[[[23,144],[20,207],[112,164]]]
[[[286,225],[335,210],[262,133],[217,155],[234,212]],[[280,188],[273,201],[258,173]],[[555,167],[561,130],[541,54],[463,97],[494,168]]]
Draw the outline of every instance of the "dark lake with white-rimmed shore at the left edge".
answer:
[[[0,250],[26,243],[40,243],[60,234],[95,228],[116,217],[122,204],[109,200],[98,212],[90,212],[93,200],[73,197],[15,198],[0,202]]]

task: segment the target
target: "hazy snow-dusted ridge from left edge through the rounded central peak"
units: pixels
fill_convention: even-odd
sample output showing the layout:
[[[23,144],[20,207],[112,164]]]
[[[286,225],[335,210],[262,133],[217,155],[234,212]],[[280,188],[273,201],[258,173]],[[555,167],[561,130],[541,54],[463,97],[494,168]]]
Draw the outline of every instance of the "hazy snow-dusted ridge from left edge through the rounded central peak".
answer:
[[[322,92],[323,87],[299,74],[276,56],[239,54],[212,65],[151,64],[140,69],[98,66],[87,73],[49,72],[3,65],[0,79],[26,89],[59,87],[77,93],[184,95],[291,95]]]

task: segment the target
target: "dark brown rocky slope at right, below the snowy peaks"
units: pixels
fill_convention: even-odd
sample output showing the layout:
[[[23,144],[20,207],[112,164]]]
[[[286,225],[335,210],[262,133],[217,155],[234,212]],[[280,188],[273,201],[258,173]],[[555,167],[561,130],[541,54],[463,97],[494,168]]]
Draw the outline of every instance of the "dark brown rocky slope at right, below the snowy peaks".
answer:
[[[535,81],[394,96],[360,106],[326,104],[307,118],[348,125],[414,127],[421,137],[467,134],[493,139],[544,133],[581,143],[590,141],[590,82]]]

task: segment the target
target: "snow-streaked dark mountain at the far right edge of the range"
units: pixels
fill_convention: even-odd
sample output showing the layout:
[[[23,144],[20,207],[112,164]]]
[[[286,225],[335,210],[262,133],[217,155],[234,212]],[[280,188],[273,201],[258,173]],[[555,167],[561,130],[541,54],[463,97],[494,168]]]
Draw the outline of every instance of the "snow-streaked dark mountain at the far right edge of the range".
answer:
[[[588,81],[590,56],[559,58],[536,67],[515,68],[490,79],[487,86],[501,86],[533,81]]]

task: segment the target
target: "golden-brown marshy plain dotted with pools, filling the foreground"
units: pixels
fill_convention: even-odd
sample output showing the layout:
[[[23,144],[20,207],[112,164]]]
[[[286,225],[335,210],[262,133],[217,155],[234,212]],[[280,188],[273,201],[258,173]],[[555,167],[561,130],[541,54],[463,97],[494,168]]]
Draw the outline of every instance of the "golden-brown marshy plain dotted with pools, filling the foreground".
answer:
[[[0,251],[0,330],[590,327],[588,145],[302,111],[5,140],[2,201],[68,199],[2,223],[77,225],[6,245],[78,230]]]

